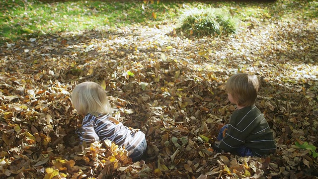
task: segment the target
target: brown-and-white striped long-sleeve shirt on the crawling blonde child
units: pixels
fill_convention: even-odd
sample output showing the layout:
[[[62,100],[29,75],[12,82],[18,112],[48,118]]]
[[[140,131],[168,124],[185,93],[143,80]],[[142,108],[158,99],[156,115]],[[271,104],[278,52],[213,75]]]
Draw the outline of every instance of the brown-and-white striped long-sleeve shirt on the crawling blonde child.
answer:
[[[124,126],[109,114],[99,114],[98,116],[87,114],[82,121],[79,139],[81,142],[87,143],[108,139],[130,151],[145,140],[145,134]]]

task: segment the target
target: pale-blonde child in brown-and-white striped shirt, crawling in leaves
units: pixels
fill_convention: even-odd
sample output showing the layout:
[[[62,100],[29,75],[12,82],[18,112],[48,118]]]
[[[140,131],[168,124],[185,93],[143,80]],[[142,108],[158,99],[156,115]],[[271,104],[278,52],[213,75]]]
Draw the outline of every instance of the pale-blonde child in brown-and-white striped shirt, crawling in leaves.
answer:
[[[81,142],[108,139],[118,146],[124,146],[133,162],[142,158],[147,148],[145,134],[111,117],[106,91],[101,86],[94,82],[81,83],[73,89],[71,99],[78,113],[84,116],[79,130]]]

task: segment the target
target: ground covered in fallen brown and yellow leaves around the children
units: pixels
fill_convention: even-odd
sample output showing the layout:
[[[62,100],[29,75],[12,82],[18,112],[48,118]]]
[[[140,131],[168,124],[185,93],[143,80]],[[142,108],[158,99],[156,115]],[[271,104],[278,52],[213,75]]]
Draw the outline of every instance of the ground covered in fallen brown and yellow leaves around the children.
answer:
[[[317,178],[318,3],[244,4],[254,11],[228,5],[241,17],[229,37],[183,37],[171,17],[3,43],[0,177]],[[181,13],[187,4],[177,7]],[[235,110],[225,82],[237,72],[259,78],[256,105],[274,131],[275,155],[238,157],[211,147]],[[78,145],[81,117],[70,93],[84,81],[105,88],[114,116],[145,132],[147,159],[132,163],[108,141]]]

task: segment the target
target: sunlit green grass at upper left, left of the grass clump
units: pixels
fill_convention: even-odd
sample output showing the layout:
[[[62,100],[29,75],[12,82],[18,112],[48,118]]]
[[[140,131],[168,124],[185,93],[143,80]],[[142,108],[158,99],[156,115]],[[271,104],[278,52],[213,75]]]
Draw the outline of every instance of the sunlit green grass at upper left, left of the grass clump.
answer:
[[[0,41],[12,41],[21,36],[120,27],[137,23],[157,23],[175,16],[174,3],[143,1],[64,1],[2,0],[0,3]],[[152,12],[158,15],[152,17]]]

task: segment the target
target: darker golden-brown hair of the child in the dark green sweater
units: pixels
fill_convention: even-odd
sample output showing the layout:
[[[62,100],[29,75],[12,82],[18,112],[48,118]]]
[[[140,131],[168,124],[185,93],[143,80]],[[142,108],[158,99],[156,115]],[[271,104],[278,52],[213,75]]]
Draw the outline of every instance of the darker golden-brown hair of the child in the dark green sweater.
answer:
[[[231,76],[226,83],[226,90],[236,100],[239,106],[249,106],[255,103],[258,93],[256,75],[239,73]]]

